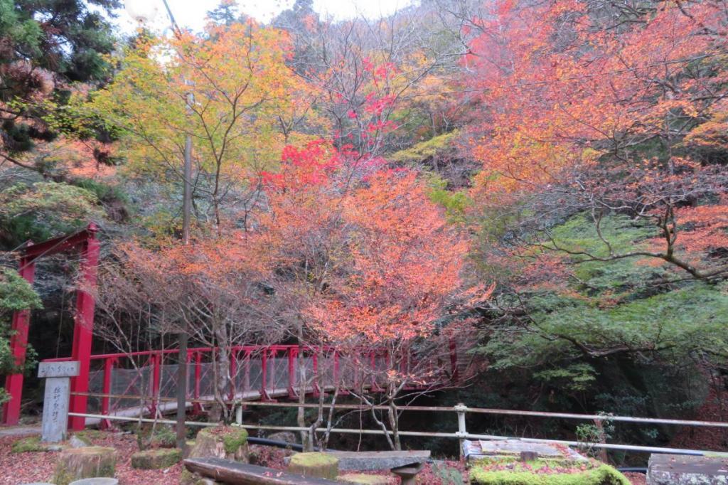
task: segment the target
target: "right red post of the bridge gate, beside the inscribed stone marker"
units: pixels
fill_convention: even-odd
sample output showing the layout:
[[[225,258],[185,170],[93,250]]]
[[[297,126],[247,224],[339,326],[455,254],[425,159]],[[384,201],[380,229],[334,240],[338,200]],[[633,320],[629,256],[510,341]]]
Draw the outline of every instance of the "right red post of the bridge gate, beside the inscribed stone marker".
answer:
[[[86,288],[96,285],[96,267],[98,266],[99,244],[96,239],[97,228],[89,224],[87,238],[81,252],[81,281],[82,288],[76,294],[76,316],[74,318],[74,344],[71,350],[71,360],[80,362],[79,375],[71,377],[71,402],[68,411],[71,413],[86,412],[87,395],[89,390],[89,367],[91,363],[91,341],[93,336],[93,312],[95,301]],[[68,417],[68,427],[74,431],[84,429],[86,418],[79,416]]]

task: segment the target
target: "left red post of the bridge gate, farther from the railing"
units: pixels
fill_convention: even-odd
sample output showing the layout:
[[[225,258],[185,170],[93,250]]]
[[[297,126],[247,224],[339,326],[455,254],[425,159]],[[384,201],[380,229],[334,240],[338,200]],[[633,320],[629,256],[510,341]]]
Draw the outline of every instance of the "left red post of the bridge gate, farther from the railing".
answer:
[[[32,243],[31,243],[32,244]],[[34,258],[20,259],[20,277],[33,284],[36,263]],[[15,365],[25,363],[25,351],[28,348],[28,326],[31,321],[31,310],[24,309],[12,314],[12,335],[10,336],[10,349],[15,358]],[[17,425],[20,419],[20,400],[23,396],[23,372],[10,374],[5,378],[5,390],[10,400],[3,404],[2,424]]]

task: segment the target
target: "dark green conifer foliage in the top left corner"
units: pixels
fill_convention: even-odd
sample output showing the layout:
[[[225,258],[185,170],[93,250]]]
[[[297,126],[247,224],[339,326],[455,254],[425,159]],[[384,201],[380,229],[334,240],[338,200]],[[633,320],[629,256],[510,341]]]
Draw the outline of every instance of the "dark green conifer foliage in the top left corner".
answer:
[[[114,49],[105,16],[117,0],[0,0],[0,150],[17,154],[49,141],[69,82],[103,82]],[[46,121],[49,121],[47,123]]]

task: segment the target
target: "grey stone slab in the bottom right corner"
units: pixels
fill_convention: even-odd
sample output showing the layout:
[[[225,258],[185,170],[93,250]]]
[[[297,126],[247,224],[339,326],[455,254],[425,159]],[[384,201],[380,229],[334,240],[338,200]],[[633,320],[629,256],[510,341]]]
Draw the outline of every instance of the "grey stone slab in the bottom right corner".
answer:
[[[728,457],[652,454],[647,485],[728,485]]]

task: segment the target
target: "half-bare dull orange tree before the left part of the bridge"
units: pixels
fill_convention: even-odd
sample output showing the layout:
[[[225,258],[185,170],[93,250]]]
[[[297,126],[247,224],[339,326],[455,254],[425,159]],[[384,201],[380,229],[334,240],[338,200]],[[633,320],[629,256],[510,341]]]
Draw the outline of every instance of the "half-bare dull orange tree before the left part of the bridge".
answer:
[[[226,401],[237,391],[232,347],[274,344],[286,334],[277,299],[266,291],[271,265],[257,248],[253,234],[237,232],[156,250],[119,245],[100,271],[97,333],[119,352],[159,348],[164,334],[181,332],[215,348],[211,419],[229,421]]]

